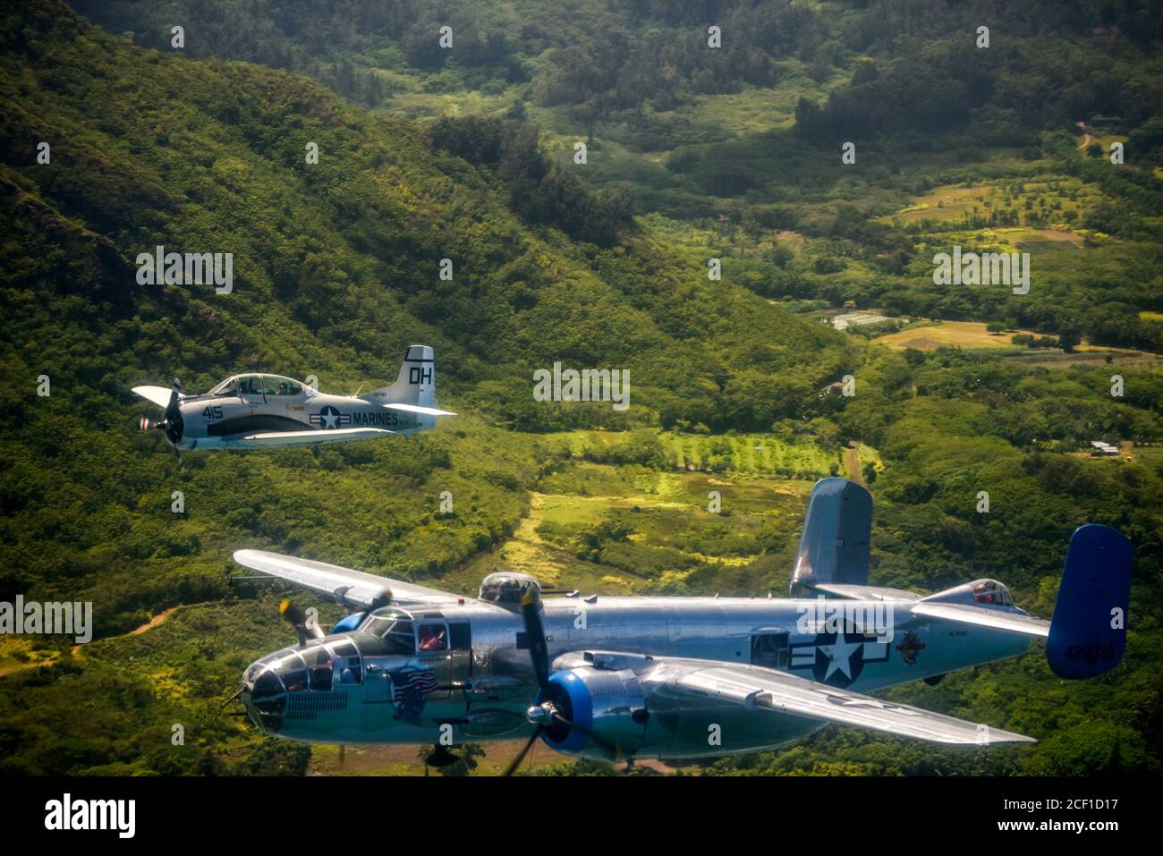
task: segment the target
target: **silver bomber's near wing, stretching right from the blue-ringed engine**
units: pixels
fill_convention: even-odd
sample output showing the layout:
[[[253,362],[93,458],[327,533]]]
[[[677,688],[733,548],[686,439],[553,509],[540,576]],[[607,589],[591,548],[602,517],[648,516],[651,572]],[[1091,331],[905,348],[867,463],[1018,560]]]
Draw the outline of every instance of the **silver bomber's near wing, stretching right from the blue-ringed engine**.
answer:
[[[665,682],[671,693],[690,694],[706,704],[716,698],[721,704],[736,704],[755,711],[793,714],[837,725],[869,728],[900,737],[914,737],[933,743],[1035,743],[1033,737],[1012,734],[954,716],[932,713],[920,707],[899,705],[837,690],[787,672],[762,666],[720,665],[697,659],[661,658],[650,670],[649,683]]]

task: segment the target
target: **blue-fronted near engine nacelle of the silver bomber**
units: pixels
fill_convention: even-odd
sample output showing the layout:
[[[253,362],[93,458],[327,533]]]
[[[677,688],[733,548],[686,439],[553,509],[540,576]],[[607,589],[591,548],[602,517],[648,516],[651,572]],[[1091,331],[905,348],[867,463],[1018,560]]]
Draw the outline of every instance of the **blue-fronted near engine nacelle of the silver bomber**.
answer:
[[[576,726],[556,720],[544,726],[542,740],[555,751],[615,761],[633,757],[642,746],[649,713],[630,669],[563,669],[549,676],[549,685],[536,704],[551,702]]]

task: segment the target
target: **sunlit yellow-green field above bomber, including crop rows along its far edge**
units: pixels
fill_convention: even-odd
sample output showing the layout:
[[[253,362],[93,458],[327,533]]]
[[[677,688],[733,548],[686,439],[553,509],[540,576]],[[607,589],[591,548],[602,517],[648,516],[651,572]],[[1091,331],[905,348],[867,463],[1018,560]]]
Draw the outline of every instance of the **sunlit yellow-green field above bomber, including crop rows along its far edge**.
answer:
[[[786,569],[764,554],[790,550],[812,484],[842,463],[839,450],[770,435],[662,433],[668,468],[655,470],[587,459],[625,442],[620,434],[548,438],[572,457],[541,479],[513,536],[443,577],[444,587],[473,593],[485,575],[508,568],[595,593],[686,593],[725,569],[723,586],[739,593],[778,588]],[[858,459],[879,466],[870,447]],[[715,501],[721,514],[709,511]],[[595,535],[612,525],[618,535]]]

